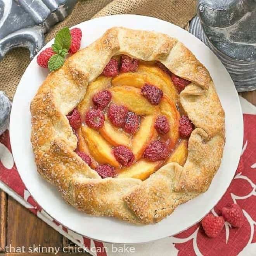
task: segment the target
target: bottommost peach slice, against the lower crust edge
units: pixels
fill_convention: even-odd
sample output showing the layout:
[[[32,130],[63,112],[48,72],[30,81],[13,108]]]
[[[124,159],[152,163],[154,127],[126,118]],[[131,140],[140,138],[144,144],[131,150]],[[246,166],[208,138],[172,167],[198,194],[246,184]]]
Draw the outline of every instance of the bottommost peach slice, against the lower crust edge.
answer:
[[[145,180],[149,177],[149,175],[154,173],[161,166],[161,164],[161,161],[148,162],[144,159],[140,159],[131,167],[118,170],[119,174],[117,178],[137,178],[140,180]]]

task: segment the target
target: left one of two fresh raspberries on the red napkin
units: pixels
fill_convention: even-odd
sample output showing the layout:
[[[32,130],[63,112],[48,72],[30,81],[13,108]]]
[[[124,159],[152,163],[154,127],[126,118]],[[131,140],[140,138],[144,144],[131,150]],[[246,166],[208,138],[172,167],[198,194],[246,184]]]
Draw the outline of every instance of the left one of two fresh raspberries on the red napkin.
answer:
[[[208,214],[202,219],[202,227],[208,237],[213,238],[220,234],[222,228],[224,227],[224,219],[222,216],[214,216],[213,214]]]

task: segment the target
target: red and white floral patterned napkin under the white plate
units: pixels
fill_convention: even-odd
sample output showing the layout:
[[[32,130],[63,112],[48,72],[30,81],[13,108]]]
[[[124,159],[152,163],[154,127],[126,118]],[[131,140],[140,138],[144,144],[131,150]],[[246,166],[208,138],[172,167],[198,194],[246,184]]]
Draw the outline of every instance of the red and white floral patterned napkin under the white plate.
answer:
[[[10,148],[9,131],[0,137],[0,189],[28,208],[59,233],[86,248],[93,256],[212,256],[256,255],[256,107],[240,97],[244,116],[244,144],[239,167],[227,192],[211,210],[220,214],[220,209],[233,202],[239,204],[246,216],[246,223],[237,229],[226,222],[225,228],[215,239],[204,234],[200,223],[173,237],[147,244],[120,245],[91,240],[62,226],[52,219],[31,197],[22,182]]]

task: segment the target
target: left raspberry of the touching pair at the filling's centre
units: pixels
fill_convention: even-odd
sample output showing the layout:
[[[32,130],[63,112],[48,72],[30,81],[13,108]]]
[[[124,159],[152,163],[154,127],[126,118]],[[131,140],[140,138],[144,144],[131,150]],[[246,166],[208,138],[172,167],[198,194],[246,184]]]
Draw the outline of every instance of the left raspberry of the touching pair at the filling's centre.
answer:
[[[125,117],[127,113],[127,107],[112,104],[109,107],[108,117],[114,126],[122,127],[125,123]]]

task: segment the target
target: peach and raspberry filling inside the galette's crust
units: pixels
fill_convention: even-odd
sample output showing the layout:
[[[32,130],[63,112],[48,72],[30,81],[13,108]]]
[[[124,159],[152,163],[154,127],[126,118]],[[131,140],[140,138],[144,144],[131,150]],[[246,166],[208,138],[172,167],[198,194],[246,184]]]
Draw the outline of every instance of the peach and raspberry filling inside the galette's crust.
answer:
[[[78,104],[80,128],[77,122],[72,126],[72,115],[67,116],[78,137],[76,151],[86,153],[96,171],[99,166],[101,173],[114,167],[111,176],[116,178],[145,180],[166,163],[183,166],[194,126],[188,118],[180,118],[179,92],[171,75],[144,61],[114,72],[106,66],[103,74],[88,85]]]

